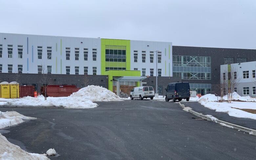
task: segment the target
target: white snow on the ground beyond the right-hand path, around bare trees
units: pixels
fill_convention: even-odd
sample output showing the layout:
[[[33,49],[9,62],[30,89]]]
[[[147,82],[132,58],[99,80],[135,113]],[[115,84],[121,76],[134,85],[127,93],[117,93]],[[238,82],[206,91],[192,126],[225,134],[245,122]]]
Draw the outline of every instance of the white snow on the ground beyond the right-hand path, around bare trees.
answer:
[[[231,103],[227,102],[217,102],[217,96],[214,94],[206,94],[201,98],[198,98],[197,101],[202,104],[204,107],[207,107],[211,110],[216,110],[217,112],[225,112],[230,116],[239,117],[239,118],[251,118],[256,119],[256,114],[249,113],[239,109],[252,109],[256,110],[256,99],[253,99],[249,96],[241,97],[236,92],[233,93],[234,97],[232,99],[242,100],[246,102],[235,102],[231,101]],[[227,100],[227,95],[224,96],[224,99]],[[218,97],[220,100],[220,97]],[[253,101],[253,102],[250,102]],[[239,109],[235,109],[239,108]]]

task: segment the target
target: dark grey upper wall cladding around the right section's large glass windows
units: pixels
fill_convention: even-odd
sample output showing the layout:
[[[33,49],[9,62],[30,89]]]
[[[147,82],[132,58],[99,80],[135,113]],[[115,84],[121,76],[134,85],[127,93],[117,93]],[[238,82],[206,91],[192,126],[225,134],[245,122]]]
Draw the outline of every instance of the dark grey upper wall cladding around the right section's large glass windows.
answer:
[[[247,62],[256,61],[256,50],[250,49],[173,46],[172,54],[211,57],[211,80],[184,79],[182,82],[212,84],[211,91],[213,92],[219,91],[220,68],[224,64],[224,57],[234,58],[234,63],[237,63],[237,58],[247,58]]]

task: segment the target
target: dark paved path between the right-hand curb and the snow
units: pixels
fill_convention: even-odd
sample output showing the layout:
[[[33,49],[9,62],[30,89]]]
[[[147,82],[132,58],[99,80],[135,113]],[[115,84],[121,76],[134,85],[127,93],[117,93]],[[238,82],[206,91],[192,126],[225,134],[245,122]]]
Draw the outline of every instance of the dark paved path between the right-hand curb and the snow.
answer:
[[[209,114],[220,120],[256,130],[256,120],[254,119],[229,116],[227,113],[216,112],[215,110],[203,107],[203,105],[198,102],[181,102],[181,104],[185,105],[186,107],[190,107],[194,111],[202,113],[204,115]]]

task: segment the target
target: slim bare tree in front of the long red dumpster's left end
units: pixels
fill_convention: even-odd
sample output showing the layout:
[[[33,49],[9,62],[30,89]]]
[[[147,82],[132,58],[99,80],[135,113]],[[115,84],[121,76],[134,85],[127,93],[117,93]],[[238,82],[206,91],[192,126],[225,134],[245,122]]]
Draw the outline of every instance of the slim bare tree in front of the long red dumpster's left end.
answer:
[[[47,68],[45,68],[44,65],[42,65],[42,76],[41,76],[41,80],[40,80],[40,83],[42,84],[43,86],[43,89],[45,91],[45,96],[44,96],[44,100],[46,100],[47,98],[47,87],[48,85],[51,85],[52,84],[52,78],[50,76],[51,72],[47,70]]]

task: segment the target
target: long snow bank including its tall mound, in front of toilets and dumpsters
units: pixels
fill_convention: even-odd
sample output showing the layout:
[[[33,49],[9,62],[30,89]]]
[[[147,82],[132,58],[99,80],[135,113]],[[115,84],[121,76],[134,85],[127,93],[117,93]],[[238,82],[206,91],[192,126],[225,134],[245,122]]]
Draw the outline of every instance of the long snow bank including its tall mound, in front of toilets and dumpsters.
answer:
[[[118,97],[110,90],[99,86],[87,86],[71,94],[69,97],[23,97],[14,99],[0,98],[0,105],[9,106],[57,106],[65,108],[96,108],[98,105],[93,101],[121,101],[122,98]]]

